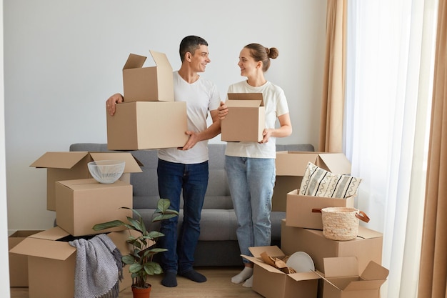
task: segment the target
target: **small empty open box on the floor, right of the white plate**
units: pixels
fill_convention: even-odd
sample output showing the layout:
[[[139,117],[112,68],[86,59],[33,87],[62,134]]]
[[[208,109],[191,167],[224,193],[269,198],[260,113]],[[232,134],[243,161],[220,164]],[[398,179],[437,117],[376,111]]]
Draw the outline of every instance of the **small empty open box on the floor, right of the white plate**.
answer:
[[[325,258],[324,269],[323,298],[380,297],[381,285],[389,273],[372,261],[362,272],[356,257]]]

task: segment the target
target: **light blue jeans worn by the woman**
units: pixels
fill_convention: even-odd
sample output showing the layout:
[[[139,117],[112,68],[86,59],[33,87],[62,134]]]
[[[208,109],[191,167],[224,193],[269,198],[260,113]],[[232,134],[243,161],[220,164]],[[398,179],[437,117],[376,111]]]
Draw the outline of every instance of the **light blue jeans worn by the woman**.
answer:
[[[241,254],[248,247],[271,244],[271,197],[275,185],[275,159],[225,157],[225,169],[238,220],[236,234]],[[248,262],[243,259],[243,262]]]

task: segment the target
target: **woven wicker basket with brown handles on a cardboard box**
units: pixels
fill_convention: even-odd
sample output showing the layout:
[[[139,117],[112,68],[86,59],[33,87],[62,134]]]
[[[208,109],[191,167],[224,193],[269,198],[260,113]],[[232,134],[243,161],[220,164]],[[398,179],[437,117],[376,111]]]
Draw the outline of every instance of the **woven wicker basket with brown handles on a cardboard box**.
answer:
[[[351,240],[357,237],[358,220],[369,222],[368,216],[356,208],[327,207],[321,211],[323,236],[331,240]]]

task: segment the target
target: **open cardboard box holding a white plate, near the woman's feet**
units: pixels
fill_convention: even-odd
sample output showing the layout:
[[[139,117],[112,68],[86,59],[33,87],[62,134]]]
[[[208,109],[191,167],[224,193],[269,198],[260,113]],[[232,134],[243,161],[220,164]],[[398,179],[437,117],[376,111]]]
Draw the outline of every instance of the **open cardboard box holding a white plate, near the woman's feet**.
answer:
[[[283,259],[285,255],[278,247],[250,247],[253,257],[242,255],[253,262],[253,290],[266,298],[311,298],[316,297],[318,279],[312,271],[286,274],[281,270],[266,264],[261,259],[261,253],[270,257]]]

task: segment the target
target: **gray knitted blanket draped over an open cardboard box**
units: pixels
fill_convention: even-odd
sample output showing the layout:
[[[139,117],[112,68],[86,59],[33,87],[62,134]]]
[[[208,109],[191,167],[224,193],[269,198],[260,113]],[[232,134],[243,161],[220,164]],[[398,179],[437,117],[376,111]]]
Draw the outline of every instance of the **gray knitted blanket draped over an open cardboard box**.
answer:
[[[74,298],[116,298],[123,278],[121,252],[106,234],[69,242],[76,247]]]

